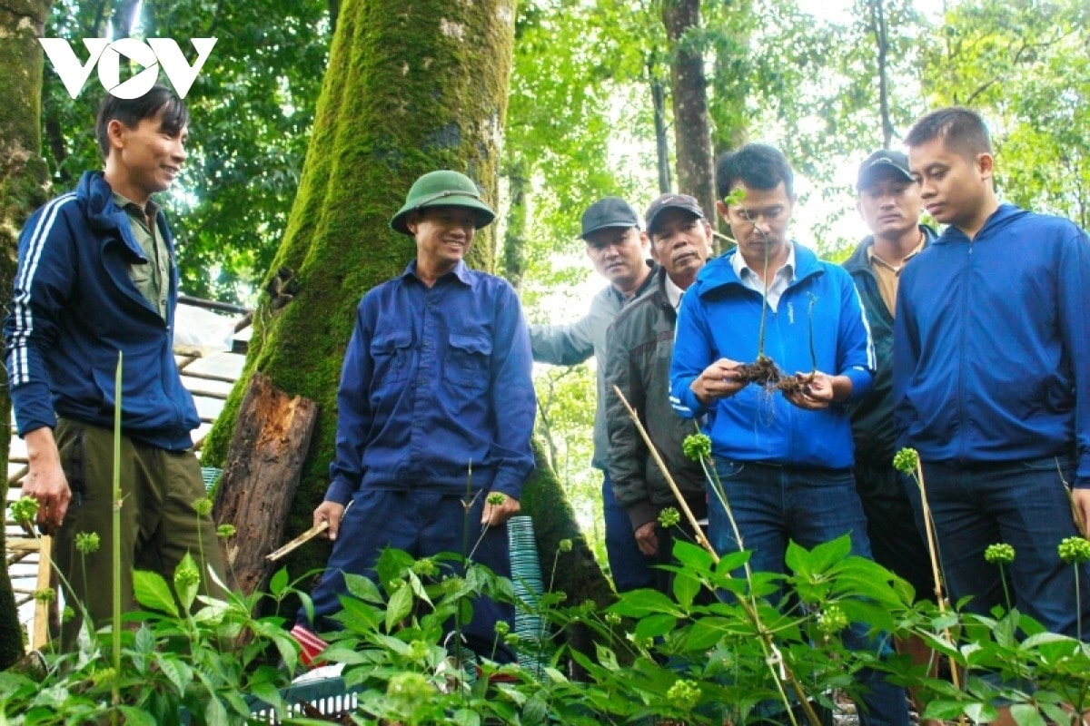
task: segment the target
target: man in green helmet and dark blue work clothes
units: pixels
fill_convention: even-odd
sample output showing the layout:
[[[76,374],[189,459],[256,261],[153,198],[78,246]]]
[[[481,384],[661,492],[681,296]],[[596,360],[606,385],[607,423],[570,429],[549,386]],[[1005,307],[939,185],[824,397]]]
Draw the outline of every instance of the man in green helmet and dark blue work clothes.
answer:
[[[469,177],[436,171],[413,184],[390,221],[415,239],[416,259],[363,297],[344,355],[336,457],[326,500],[314,510],[314,524],[328,521],[334,540],[312,595],[320,628],[341,608],[343,574],[376,578],[384,547],[468,556],[465,517],[485,528],[473,561],[510,576],[502,525],[519,512],[534,468],[536,402],[519,298],[462,259],[476,230],[494,219]],[[493,493],[502,502],[487,503]],[[494,645],[496,622],[513,619],[510,605],[479,599],[462,632],[479,654],[513,661],[501,640]],[[293,633],[307,654],[320,642],[300,620]]]

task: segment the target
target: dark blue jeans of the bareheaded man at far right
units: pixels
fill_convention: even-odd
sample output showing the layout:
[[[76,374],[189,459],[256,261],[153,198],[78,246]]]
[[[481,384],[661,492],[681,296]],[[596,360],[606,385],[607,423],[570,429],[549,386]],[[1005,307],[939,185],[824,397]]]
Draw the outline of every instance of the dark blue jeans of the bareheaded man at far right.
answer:
[[[1070,481],[1075,465],[1064,458],[971,466],[923,462],[952,602],[972,595],[968,610],[981,615],[995,605],[1007,607],[1000,569],[984,562],[988,545],[1005,542],[1015,549],[1014,562],[1006,565],[1010,604],[1052,632],[1076,637],[1080,613],[1083,630],[1090,630],[1090,569],[1081,566],[1076,603],[1074,566],[1056,552],[1064,538],[1078,533],[1061,469]],[[923,531],[919,487],[913,480],[906,489]]]

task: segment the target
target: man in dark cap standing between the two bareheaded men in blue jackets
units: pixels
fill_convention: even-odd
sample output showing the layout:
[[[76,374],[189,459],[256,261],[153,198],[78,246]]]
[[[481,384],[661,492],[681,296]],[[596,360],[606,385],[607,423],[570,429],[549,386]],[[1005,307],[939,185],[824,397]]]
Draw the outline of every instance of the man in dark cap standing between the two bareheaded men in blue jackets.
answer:
[[[856,490],[867,515],[874,559],[908,580],[918,596],[934,590],[928,551],[916,527],[904,477],[893,467],[893,321],[900,271],[935,238],[920,224],[920,185],[900,151],[879,150],[859,167],[860,217],[870,229],[844,263],[851,273],[874,341],[874,386],[847,404],[856,443]],[[919,638],[897,641],[898,652],[918,664],[933,661]],[[919,704],[917,704],[919,707]]]

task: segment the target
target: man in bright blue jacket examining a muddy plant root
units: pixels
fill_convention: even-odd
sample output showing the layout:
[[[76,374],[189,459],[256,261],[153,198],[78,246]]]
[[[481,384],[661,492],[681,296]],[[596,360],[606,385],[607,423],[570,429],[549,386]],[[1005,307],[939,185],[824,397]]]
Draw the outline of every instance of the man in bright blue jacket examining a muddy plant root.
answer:
[[[705,417],[723,485],[722,494],[708,487],[708,539],[720,553],[749,550],[754,570],[773,573],[785,571],[791,540],[813,547],[850,534],[853,554],[871,554],[845,404],[870,389],[874,350],[850,275],[788,237],[792,181],[770,146],[719,159],[716,208],[738,247],[705,264],[681,298],[670,367],[671,403],[681,416]],[[780,394],[749,383],[742,362],[762,354],[801,385]],[[845,642],[888,650],[861,624]],[[872,669],[858,679],[864,725],[908,724],[904,689]]]

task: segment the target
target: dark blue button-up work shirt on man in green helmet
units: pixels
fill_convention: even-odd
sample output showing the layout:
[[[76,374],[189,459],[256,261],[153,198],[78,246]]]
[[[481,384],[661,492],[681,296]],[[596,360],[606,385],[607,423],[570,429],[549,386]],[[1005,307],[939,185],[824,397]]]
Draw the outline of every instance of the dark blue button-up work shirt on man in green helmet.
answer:
[[[520,499],[534,468],[536,398],[522,306],[504,280],[459,261],[432,287],[415,274],[361,300],[337,394],[326,500],[362,488]]]

